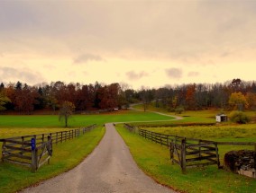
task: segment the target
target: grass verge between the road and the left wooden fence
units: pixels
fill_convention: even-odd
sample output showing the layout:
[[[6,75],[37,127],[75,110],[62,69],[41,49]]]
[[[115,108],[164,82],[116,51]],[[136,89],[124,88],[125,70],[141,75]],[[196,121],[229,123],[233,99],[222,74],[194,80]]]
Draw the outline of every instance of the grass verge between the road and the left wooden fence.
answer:
[[[43,165],[35,173],[23,166],[1,162],[0,192],[15,192],[41,180],[50,179],[61,172],[69,171],[94,150],[104,134],[105,127],[96,127],[83,136],[53,145],[50,164]]]

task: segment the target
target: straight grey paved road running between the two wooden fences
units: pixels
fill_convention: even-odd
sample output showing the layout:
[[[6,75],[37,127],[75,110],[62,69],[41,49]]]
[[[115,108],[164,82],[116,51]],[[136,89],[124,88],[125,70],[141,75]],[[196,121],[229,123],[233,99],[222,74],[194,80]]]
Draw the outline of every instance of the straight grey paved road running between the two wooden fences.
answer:
[[[95,151],[73,170],[46,180],[23,192],[174,192],[146,176],[133,161],[128,147],[113,124],[105,124],[106,132]]]

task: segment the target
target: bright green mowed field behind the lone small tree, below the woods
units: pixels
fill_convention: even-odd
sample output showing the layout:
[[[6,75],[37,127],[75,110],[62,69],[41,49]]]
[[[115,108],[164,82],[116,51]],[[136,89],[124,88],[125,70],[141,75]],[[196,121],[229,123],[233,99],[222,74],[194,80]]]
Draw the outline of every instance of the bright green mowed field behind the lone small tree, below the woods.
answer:
[[[69,127],[85,127],[93,124],[103,125],[109,122],[125,121],[149,121],[149,120],[169,120],[167,116],[158,115],[151,112],[140,112],[135,110],[123,110],[119,112],[99,115],[73,115],[69,119]],[[9,127],[64,127],[63,122],[59,122],[57,115],[28,115],[28,116],[0,116],[0,138],[1,128]]]

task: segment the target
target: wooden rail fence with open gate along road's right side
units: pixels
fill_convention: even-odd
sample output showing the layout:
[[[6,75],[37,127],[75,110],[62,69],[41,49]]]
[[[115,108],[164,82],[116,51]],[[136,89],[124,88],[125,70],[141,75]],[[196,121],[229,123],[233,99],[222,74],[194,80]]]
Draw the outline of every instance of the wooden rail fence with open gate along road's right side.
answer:
[[[125,124],[126,128],[130,126]],[[130,129],[129,129],[130,130]],[[169,147],[171,162],[176,162],[185,172],[186,168],[198,165],[217,165],[220,168],[218,145],[254,145],[254,142],[215,142],[203,139],[171,136],[139,128],[140,136],[160,145]]]

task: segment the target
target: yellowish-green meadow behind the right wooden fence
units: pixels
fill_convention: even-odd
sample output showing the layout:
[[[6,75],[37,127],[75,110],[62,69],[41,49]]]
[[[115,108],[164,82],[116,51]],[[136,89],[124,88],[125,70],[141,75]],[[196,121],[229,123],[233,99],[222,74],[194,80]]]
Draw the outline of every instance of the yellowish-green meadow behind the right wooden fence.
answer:
[[[144,127],[144,129],[171,136],[184,136],[216,142],[256,142],[255,124],[207,127]],[[221,163],[223,163],[224,154],[229,151],[241,149],[254,150],[253,145],[219,145],[218,148]]]

